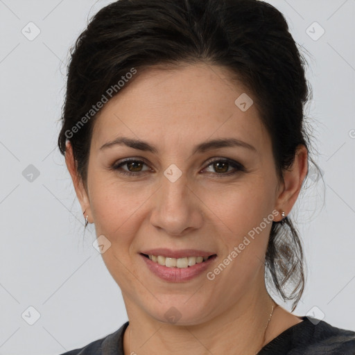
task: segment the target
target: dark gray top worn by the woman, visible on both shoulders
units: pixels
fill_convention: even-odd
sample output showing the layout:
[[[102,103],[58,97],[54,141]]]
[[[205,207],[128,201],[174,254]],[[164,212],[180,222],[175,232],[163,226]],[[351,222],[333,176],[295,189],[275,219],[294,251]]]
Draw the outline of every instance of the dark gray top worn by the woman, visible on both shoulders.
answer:
[[[306,316],[302,320],[272,339],[257,355],[355,355],[354,331]],[[114,333],[85,347],[60,355],[124,355],[123,334],[128,324],[125,322]]]

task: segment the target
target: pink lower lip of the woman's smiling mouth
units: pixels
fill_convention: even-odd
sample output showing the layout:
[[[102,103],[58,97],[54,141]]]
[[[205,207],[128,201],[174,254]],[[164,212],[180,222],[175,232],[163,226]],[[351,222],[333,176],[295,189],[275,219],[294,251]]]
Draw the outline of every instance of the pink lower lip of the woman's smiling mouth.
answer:
[[[148,269],[153,272],[153,274],[160,277],[164,281],[170,282],[184,282],[201,275],[210,265],[213,263],[214,259],[216,259],[216,255],[203,261],[202,263],[196,263],[193,266],[189,266],[188,268],[168,268],[167,266],[162,266],[159,263],[155,263],[155,261],[151,261],[144,255],[139,254],[144,261],[146,262],[146,266]]]

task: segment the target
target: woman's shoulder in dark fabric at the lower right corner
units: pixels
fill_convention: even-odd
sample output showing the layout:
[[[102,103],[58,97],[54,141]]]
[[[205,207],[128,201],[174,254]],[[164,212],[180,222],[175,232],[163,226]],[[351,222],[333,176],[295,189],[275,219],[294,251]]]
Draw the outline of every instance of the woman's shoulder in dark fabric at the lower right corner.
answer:
[[[355,355],[355,332],[340,329],[315,318],[286,329],[258,355]]]

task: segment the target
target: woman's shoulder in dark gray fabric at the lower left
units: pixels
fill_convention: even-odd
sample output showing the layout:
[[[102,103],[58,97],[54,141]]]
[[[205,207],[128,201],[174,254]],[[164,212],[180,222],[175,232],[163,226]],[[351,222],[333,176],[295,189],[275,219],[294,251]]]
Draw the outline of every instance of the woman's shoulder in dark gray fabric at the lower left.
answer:
[[[60,355],[123,355],[123,333],[127,327],[128,322],[125,322],[125,324],[114,331],[114,333],[94,340],[92,343],[85,345],[85,347],[73,349]]]

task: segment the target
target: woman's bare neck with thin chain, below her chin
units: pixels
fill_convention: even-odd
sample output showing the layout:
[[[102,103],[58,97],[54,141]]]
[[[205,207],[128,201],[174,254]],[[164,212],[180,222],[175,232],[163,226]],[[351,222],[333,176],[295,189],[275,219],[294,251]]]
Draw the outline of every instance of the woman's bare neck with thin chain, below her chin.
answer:
[[[123,297],[125,298],[125,297]],[[266,288],[245,293],[232,306],[205,322],[177,325],[159,322],[125,299],[130,324],[123,336],[125,354],[254,355],[266,345],[274,301]]]

